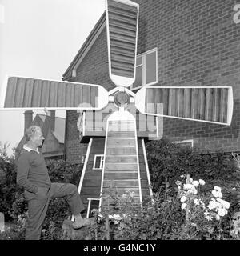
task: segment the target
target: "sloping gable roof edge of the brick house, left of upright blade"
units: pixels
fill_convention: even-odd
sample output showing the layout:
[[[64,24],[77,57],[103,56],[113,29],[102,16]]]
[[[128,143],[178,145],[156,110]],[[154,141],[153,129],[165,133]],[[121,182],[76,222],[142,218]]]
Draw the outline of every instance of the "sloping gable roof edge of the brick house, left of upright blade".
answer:
[[[89,36],[86,38],[86,41],[83,43],[78,54],[74,57],[73,61],[70,63],[70,66],[66,69],[65,73],[62,74],[62,80],[68,80],[73,77],[73,71],[79,66],[82,62],[82,59],[86,56],[87,52],[90,50],[91,46],[94,44],[95,40],[98,38],[98,35],[101,34],[103,28],[106,26],[106,13],[102,14],[98,22],[94,26],[94,29],[90,32]]]

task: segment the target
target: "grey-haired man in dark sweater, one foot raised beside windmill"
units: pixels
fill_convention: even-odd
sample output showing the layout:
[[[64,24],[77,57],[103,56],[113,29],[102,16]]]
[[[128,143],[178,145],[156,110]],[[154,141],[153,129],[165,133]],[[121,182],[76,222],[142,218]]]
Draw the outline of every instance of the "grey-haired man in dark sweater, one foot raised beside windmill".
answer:
[[[77,186],[70,183],[51,183],[45,160],[38,146],[44,140],[38,126],[30,126],[25,133],[26,144],[18,157],[17,183],[24,188],[28,202],[29,218],[26,223],[26,240],[39,240],[42,222],[46,217],[50,198],[66,198],[74,215],[74,229],[93,223],[93,219],[82,218],[84,210]]]

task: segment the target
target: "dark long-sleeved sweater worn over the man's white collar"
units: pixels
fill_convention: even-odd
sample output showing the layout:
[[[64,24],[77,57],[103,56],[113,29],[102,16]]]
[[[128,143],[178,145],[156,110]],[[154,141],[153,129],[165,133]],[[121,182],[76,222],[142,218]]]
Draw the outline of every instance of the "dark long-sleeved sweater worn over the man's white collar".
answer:
[[[42,153],[23,149],[18,158],[17,183],[24,190],[37,193],[38,186],[50,187],[50,177]]]

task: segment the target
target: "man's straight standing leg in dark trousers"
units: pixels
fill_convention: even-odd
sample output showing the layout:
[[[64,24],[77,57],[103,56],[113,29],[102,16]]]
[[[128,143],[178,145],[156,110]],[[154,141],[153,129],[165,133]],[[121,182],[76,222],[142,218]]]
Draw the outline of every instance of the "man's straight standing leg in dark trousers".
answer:
[[[39,240],[41,238],[42,223],[46,217],[50,196],[47,188],[38,188],[38,195],[28,201],[28,215],[26,222],[26,240]]]

